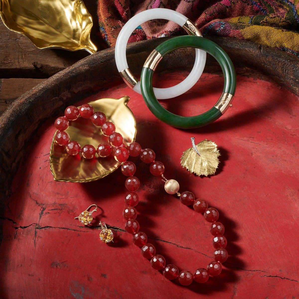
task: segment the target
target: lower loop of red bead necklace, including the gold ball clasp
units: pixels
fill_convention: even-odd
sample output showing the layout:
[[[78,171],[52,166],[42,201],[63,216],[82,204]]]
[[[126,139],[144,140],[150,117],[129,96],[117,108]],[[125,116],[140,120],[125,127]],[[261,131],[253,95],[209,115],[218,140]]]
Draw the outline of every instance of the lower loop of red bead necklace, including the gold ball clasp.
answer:
[[[227,240],[223,236],[224,226],[218,222],[219,213],[215,208],[209,208],[208,203],[204,199],[196,199],[194,194],[190,191],[184,191],[179,193],[179,183],[175,180],[167,180],[163,173],[165,167],[162,162],[155,161],[155,152],[152,149],[141,149],[140,144],[132,142],[127,146],[129,155],[138,156],[143,162],[150,164],[149,170],[154,176],[161,176],[164,181],[165,191],[169,194],[177,194],[183,205],[193,205],[193,209],[198,213],[203,213],[203,217],[207,222],[211,223],[210,233],[213,235],[212,244],[215,248],[213,253],[214,260],[211,261],[206,268],[196,269],[195,272],[183,270],[179,272],[179,269],[172,264],[166,265],[165,258],[156,254],[155,246],[147,242],[147,235],[139,231],[139,223],[136,220],[139,199],[138,194],[135,191],[140,186],[140,181],[134,176],[136,166],[131,161],[126,161],[121,166],[121,172],[128,178],[125,181],[125,187],[129,190],[129,193],[125,196],[126,207],[123,210],[123,217],[126,220],[125,230],[133,235],[133,243],[141,247],[141,254],[143,257],[150,259],[151,266],[156,270],[163,271],[165,278],[169,280],[178,279],[179,283],[183,286],[190,285],[193,280],[197,283],[205,283],[210,276],[217,276],[222,270],[221,263],[225,262],[228,258],[228,253],[225,249]]]

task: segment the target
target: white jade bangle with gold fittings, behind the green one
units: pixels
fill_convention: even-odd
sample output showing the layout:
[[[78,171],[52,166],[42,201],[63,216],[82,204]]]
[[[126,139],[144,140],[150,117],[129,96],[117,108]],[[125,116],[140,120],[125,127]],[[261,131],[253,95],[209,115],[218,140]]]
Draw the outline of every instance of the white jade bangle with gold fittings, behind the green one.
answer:
[[[166,19],[176,22],[190,35],[202,36],[200,31],[196,28],[187,17],[175,10],[166,8],[152,8],[142,11],[133,16],[120,30],[115,45],[115,62],[125,83],[134,91],[141,94],[140,82],[131,73],[126,59],[126,45],[132,32],[142,23],[153,19]],[[195,49],[195,64],[190,74],[181,83],[168,88],[154,88],[154,94],[157,99],[170,99],[177,97],[188,91],[200,78],[205,67],[206,52],[200,49]]]

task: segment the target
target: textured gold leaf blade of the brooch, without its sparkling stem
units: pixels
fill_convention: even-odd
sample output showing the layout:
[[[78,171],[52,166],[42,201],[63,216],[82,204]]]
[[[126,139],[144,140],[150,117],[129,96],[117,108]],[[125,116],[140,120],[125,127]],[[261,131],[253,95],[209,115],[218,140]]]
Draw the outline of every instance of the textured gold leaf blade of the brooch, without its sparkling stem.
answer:
[[[183,168],[186,167],[187,170],[198,176],[215,174],[220,156],[217,144],[211,140],[203,140],[196,144],[196,149],[200,155],[193,147],[183,152],[181,157]]]

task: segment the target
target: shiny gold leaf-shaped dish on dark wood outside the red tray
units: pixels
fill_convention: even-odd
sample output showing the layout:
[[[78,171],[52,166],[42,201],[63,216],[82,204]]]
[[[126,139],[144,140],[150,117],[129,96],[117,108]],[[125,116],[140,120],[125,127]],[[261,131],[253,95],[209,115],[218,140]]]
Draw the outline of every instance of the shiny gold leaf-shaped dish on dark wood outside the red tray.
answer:
[[[92,18],[81,0],[0,0],[0,16],[37,48],[97,51],[90,40]]]

